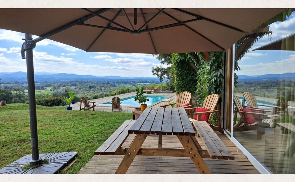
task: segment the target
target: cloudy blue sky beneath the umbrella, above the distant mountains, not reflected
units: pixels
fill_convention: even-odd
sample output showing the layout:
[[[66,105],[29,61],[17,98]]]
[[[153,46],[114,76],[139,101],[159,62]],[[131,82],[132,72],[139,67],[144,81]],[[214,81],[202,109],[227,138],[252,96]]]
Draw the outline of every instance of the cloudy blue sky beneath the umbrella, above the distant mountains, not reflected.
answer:
[[[20,54],[22,38],[23,33],[0,29],[0,72],[26,72],[26,60]],[[160,65],[151,54],[85,52],[49,39],[38,42],[33,52],[37,74],[153,76],[151,67]]]

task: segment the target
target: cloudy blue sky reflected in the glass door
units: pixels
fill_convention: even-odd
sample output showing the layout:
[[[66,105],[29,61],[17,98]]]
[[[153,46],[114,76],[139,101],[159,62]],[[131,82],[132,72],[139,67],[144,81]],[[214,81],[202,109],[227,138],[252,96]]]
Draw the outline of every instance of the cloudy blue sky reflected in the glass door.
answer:
[[[284,22],[274,22],[269,25],[272,31],[271,41],[268,36],[259,39],[245,56],[238,61],[241,71],[238,75],[264,75],[295,72],[295,51],[256,50],[262,45],[276,41],[295,33],[295,12]]]

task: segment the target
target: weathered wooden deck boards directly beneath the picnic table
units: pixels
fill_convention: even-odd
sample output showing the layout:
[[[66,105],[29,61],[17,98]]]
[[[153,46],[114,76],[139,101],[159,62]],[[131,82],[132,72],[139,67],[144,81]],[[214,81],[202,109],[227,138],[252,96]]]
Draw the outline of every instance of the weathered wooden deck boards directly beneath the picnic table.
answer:
[[[223,174],[259,174],[255,167],[249,162],[245,155],[225,135],[217,132],[217,135],[233,153],[235,160],[212,160],[205,158],[212,173]],[[122,147],[129,147],[135,134],[125,140]],[[176,136],[163,136],[163,148],[183,148]],[[203,146],[200,137],[198,142]],[[149,135],[142,147],[158,147],[158,136]],[[204,147],[205,148],[205,147]],[[94,152],[94,151],[93,151]],[[78,172],[79,174],[114,174],[123,155],[100,156],[95,155]],[[129,174],[198,174],[198,170],[189,157],[160,157],[160,156],[136,156],[132,162]]]

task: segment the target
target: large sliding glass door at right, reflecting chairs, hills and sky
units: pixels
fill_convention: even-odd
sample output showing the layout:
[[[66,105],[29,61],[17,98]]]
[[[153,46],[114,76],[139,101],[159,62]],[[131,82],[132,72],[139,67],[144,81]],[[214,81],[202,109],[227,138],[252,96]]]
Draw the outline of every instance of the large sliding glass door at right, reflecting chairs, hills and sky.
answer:
[[[268,171],[295,173],[295,11],[236,42],[232,137]]]

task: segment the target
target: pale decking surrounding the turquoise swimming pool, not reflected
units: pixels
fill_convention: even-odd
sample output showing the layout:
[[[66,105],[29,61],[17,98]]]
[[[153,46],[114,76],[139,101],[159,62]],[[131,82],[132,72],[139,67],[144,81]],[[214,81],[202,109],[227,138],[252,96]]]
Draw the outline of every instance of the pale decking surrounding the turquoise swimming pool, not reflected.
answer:
[[[112,107],[111,106],[99,106],[100,104],[111,102],[113,97],[119,97],[120,99],[125,99],[128,97],[135,96],[136,92],[130,92],[130,93],[124,93],[116,96],[109,96],[109,97],[104,97],[104,98],[99,98],[99,99],[93,99],[89,100],[89,102],[96,102],[95,105],[96,107],[94,108],[95,111],[106,111],[106,112],[111,112]],[[154,104],[149,105],[148,107],[160,107],[160,105],[169,103],[169,102],[176,102],[176,93],[144,93],[144,95],[159,95],[159,96],[167,96],[165,99],[170,99],[168,102],[164,102],[160,100],[159,102],[156,102]],[[73,107],[73,110],[80,110],[80,102],[76,102],[75,104],[71,104]],[[82,106],[83,107],[83,106]],[[139,107],[139,104],[138,104]],[[122,105],[122,111],[123,113],[132,113],[134,110],[133,106],[124,106]],[[93,110],[91,110],[93,111]],[[113,111],[113,112],[119,112],[119,111]]]

